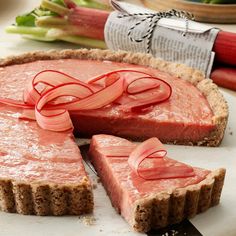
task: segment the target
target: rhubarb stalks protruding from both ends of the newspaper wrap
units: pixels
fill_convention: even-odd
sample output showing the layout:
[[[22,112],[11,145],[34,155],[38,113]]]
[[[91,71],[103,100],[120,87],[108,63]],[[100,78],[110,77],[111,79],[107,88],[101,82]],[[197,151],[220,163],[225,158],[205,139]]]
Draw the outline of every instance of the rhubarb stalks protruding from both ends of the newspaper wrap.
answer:
[[[111,11],[107,0],[42,0],[30,13],[17,16],[6,31],[34,40],[106,48],[104,27]],[[236,90],[236,33],[220,31],[213,51],[216,58],[211,79]]]

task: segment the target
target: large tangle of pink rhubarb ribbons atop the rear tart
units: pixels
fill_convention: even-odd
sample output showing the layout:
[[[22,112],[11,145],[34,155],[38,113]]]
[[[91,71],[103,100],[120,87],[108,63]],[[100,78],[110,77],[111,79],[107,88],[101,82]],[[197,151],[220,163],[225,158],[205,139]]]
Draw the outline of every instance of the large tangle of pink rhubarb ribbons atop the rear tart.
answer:
[[[146,72],[115,70],[87,83],[55,70],[41,71],[27,84],[24,102],[0,99],[6,105],[25,109],[24,119],[35,119],[47,130],[73,128],[71,111],[100,109],[112,103],[124,111],[140,111],[170,98],[171,86]]]

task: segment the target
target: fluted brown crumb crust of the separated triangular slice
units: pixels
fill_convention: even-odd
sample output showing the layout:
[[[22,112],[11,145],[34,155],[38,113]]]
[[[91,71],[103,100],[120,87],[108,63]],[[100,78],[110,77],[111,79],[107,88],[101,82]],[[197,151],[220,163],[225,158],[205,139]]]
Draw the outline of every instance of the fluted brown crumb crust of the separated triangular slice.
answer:
[[[192,218],[219,204],[224,178],[225,169],[218,169],[197,185],[154,194],[137,201],[130,224],[136,231],[147,232],[151,228],[163,228]]]

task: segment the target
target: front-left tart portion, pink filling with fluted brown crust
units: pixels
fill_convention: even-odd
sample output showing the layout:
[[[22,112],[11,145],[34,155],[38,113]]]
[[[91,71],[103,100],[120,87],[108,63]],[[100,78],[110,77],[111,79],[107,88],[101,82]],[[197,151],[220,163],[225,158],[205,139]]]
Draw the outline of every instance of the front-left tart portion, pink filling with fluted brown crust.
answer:
[[[36,215],[80,215],[93,210],[90,180],[71,132],[19,120],[0,105],[0,209]]]

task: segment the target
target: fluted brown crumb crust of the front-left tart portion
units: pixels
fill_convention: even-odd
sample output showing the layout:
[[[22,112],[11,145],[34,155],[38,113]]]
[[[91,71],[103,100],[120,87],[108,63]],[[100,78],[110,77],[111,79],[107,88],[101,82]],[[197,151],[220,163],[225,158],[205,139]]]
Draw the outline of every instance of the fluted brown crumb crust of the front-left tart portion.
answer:
[[[81,215],[93,211],[91,184],[50,184],[0,179],[0,209],[24,215]]]

